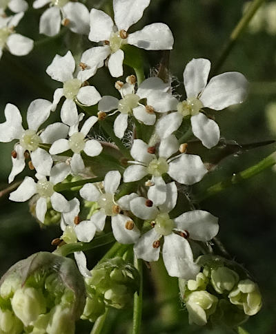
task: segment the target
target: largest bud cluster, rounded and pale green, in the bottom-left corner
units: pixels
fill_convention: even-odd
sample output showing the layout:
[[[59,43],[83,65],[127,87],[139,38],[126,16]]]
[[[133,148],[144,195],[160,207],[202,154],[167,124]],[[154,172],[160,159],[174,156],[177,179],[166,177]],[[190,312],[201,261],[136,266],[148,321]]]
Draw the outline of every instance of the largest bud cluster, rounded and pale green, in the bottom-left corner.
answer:
[[[85,286],[70,258],[35,253],[14,264],[0,284],[0,333],[75,333]]]

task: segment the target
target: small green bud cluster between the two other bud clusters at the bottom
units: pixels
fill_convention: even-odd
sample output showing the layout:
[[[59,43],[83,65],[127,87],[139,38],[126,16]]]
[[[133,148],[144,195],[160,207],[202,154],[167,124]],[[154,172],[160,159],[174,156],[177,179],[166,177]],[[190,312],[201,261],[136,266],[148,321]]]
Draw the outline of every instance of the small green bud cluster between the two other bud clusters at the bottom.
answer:
[[[86,306],[81,319],[95,322],[106,307],[123,309],[139,289],[139,273],[120,257],[97,264],[86,278]]]

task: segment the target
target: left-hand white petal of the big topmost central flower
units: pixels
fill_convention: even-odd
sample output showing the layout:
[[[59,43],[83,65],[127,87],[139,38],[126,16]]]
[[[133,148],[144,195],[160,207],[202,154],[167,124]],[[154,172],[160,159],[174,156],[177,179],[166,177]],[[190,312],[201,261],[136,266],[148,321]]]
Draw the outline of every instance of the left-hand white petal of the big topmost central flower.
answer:
[[[90,33],[88,39],[92,42],[109,41],[113,29],[111,17],[103,12],[92,8],[90,12]]]

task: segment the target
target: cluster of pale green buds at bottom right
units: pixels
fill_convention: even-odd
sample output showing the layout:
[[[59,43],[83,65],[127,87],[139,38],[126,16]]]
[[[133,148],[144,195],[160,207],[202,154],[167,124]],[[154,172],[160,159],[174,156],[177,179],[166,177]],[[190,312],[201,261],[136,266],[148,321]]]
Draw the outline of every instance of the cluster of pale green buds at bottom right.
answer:
[[[235,327],[259,312],[259,288],[239,264],[217,255],[202,255],[197,264],[195,280],[179,279],[190,324]]]

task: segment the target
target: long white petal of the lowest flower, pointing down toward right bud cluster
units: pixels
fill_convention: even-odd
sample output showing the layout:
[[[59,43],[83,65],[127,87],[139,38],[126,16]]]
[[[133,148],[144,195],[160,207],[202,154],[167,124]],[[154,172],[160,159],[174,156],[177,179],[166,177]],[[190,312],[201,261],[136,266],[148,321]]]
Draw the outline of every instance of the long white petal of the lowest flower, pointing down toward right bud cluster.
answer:
[[[193,262],[193,252],[188,241],[175,233],[164,237],[163,259],[172,277],[195,279],[199,267]]]

